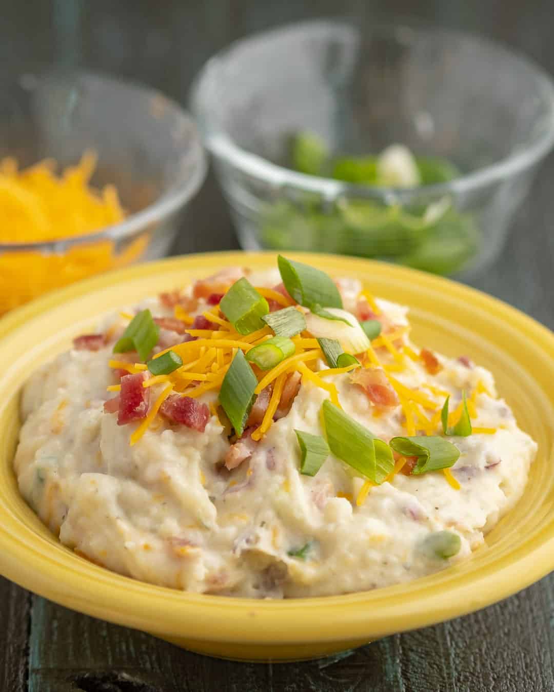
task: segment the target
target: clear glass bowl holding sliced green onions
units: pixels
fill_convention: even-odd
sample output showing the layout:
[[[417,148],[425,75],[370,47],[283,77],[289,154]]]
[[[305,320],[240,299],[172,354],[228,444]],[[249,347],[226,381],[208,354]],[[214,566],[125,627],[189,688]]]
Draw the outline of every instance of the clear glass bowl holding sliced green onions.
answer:
[[[554,140],[552,80],[506,48],[449,30],[309,21],[237,42],[197,76],[191,106],[244,248],[316,250],[436,273],[481,268]],[[285,167],[292,134],[331,152],[401,143],[461,171],[377,188]]]

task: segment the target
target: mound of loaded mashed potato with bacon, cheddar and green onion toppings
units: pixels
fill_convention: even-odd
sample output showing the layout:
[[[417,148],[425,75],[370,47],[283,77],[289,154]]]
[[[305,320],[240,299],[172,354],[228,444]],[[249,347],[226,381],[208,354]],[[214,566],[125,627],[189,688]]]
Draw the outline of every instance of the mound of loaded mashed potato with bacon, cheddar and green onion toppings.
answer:
[[[65,545],[150,583],[343,594],[467,559],[536,444],[406,308],[280,257],[105,320],[22,399],[19,488]]]

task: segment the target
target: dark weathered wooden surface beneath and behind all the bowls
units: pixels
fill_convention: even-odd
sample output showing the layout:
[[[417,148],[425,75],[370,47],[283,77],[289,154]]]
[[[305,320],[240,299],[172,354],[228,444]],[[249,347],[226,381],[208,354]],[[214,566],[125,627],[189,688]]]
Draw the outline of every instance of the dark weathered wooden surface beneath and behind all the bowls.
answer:
[[[340,10],[370,21],[373,4],[343,0]],[[410,0],[388,2],[387,8],[404,17],[415,12]],[[78,62],[150,82],[184,101],[195,71],[229,40],[283,21],[336,13],[332,0],[12,3],[1,12],[0,64],[29,57]],[[416,16],[488,33],[554,69],[548,0],[436,0],[418,3]],[[503,255],[472,280],[551,328],[553,179],[551,157],[515,219]],[[191,216],[176,252],[237,246],[213,179],[195,200]],[[553,662],[553,575],[467,617],[388,637],[341,657],[282,665],[235,664],[187,653],[0,579],[0,692],[553,691]]]

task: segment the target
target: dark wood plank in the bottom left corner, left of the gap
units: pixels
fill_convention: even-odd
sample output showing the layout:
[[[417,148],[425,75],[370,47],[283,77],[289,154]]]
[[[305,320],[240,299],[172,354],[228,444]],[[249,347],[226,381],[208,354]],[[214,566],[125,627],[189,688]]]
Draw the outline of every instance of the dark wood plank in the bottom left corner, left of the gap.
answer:
[[[24,692],[30,594],[0,577],[0,690]]]

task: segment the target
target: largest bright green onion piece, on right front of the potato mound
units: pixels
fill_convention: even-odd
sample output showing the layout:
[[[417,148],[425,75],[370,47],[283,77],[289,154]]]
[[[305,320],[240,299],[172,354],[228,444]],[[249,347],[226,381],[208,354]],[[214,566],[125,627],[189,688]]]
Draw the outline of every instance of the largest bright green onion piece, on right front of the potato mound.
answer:
[[[381,484],[394,468],[391,448],[330,401],[323,401],[323,421],[335,457]]]

